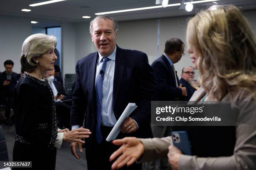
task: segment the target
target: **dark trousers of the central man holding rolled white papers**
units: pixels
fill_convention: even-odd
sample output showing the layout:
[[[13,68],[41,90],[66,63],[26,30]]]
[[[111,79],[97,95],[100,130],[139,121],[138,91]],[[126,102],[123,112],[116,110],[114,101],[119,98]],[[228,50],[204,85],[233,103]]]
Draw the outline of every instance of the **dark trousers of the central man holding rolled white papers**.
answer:
[[[88,170],[110,170],[113,162],[109,162],[110,155],[118,150],[119,146],[113,145],[111,142],[107,142],[106,138],[113,127],[101,126],[101,134],[103,137],[100,145],[92,143],[85,148],[87,168]],[[86,144],[85,144],[86,145]],[[142,164],[136,164],[127,167],[123,167],[120,170],[141,170]]]

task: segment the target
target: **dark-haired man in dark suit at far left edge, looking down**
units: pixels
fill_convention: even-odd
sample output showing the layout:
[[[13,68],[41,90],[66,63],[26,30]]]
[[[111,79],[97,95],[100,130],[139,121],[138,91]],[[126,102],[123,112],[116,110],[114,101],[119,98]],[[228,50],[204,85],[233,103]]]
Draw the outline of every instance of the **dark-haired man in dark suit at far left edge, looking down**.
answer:
[[[1,103],[5,104],[5,123],[8,124],[11,102],[13,98],[13,89],[18,81],[18,74],[13,72],[13,61],[6,60],[4,62],[5,71],[0,74],[0,92]]]

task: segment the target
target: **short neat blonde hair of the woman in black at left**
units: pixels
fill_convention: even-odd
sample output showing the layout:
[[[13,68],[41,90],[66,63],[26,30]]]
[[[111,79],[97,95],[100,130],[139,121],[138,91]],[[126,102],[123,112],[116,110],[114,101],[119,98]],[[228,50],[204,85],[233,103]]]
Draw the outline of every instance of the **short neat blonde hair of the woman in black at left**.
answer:
[[[37,63],[34,61],[36,57],[41,57],[47,51],[56,45],[56,37],[46,34],[33,34],[26,38],[23,42],[20,56],[21,68],[27,72],[33,72]]]

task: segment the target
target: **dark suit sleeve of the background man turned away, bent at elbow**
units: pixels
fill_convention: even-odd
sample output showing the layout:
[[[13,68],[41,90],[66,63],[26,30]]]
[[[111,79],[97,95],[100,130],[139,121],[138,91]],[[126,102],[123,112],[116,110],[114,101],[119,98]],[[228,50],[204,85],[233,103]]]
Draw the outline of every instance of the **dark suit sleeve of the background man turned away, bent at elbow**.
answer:
[[[167,83],[167,74],[166,67],[161,62],[156,62],[152,65],[152,68],[155,73],[156,83],[157,83],[157,92],[160,96],[170,96],[170,98],[178,98],[182,96],[182,90],[179,87],[172,87]],[[175,80],[174,80],[175,81]]]

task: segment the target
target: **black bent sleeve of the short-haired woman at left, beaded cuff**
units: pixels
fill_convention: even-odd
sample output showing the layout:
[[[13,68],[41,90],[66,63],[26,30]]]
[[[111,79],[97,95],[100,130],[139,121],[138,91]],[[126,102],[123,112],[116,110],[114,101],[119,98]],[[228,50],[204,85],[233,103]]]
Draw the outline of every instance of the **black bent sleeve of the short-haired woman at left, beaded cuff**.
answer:
[[[55,138],[56,140],[54,133],[57,132],[52,132],[51,129],[38,128],[40,127],[40,116],[36,114],[40,105],[38,91],[30,84],[20,85],[18,91],[18,102],[20,103],[17,108],[19,113],[17,116],[19,117],[20,135],[31,143],[37,143],[40,147],[52,148],[55,142],[52,143],[51,139]],[[22,104],[23,102],[24,104]]]

